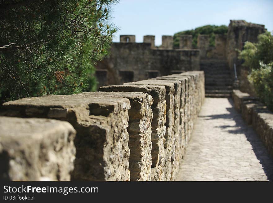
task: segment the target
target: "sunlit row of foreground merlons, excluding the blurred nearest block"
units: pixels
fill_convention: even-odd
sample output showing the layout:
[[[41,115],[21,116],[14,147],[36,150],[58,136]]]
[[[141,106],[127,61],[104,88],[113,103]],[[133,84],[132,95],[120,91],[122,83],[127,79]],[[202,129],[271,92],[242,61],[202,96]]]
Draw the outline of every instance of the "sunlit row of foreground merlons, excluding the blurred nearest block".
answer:
[[[71,180],[175,180],[204,101],[204,72],[100,90],[10,101],[3,104],[0,115],[54,118],[72,124],[77,134]],[[62,166],[66,167],[58,165]]]

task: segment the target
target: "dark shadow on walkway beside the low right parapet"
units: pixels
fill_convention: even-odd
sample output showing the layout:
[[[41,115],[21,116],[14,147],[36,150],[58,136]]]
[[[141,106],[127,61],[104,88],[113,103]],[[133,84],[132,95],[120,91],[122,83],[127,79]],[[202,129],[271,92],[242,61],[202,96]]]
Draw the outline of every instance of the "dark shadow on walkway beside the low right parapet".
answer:
[[[257,159],[260,161],[260,164],[262,165],[262,168],[267,176],[267,179],[269,181],[273,181],[273,158],[267,152],[267,149],[263,145],[262,140],[253,130],[252,126],[247,126],[247,124],[244,122],[243,118],[241,117],[241,114],[239,114],[236,111],[236,109],[234,108],[233,100],[229,98],[228,101],[230,105],[232,106],[232,108],[226,108],[226,110],[229,113],[209,115],[209,116],[199,116],[199,117],[204,117],[206,120],[230,119],[235,121],[235,126],[224,125],[224,126],[218,126],[218,127],[222,128],[223,130],[226,130],[227,132],[231,134],[244,134],[247,140],[252,145],[252,149]],[[229,128],[232,128],[232,129],[236,128],[236,129],[229,130]]]

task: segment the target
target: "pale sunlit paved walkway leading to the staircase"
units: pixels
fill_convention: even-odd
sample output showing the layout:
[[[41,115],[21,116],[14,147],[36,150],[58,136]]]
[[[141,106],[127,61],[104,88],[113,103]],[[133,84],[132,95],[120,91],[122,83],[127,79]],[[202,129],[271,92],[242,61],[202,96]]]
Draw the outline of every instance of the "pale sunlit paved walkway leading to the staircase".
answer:
[[[232,99],[206,98],[177,181],[273,180],[273,159]]]

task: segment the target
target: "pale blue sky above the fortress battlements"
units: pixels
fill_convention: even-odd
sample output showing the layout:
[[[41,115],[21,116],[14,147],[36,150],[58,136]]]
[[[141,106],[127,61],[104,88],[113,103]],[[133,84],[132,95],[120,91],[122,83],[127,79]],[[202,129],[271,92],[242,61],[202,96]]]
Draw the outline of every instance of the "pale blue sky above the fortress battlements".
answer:
[[[155,35],[161,44],[162,35],[214,24],[228,25],[230,20],[246,20],[264,24],[273,31],[273,0],[120,0],[112,6],[111,22],[120,28],[119,35],[136,35],[143,42],[144,35]]]

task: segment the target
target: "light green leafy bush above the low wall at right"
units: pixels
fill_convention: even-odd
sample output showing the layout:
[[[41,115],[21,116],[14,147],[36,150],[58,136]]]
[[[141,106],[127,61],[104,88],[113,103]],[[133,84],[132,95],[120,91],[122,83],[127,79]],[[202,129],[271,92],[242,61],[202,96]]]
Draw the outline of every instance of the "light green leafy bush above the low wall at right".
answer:
[[[248,80],[257,95],[273,111],[273,36],[270,32],[260,34],[257,43],[246,42],[239,51],[239,59],[250,68]]]

